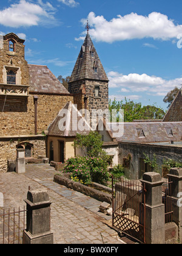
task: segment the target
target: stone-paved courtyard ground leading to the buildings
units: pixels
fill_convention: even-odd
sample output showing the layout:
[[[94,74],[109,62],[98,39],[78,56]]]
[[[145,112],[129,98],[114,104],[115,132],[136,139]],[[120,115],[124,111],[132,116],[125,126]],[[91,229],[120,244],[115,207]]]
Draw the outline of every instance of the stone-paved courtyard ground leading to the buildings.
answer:
[[[25,174],[0,173],[3,208],[24,207],[29,186],[46,188],[52,202],[55,244],[124,244],[118,233],[106,225],[111,217],[99,213],[101,202],[53,182],[56,173],[49,164],[26,165]]]

